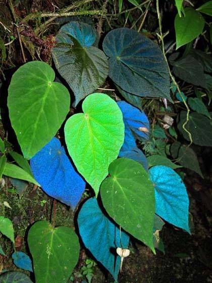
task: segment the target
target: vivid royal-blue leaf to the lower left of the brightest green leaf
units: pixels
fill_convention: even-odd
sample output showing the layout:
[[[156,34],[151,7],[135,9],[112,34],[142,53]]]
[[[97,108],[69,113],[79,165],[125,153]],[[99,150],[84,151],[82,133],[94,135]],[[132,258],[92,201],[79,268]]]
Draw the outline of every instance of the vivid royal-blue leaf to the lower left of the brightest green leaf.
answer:
[[[31,160],[35,179],[43,191],[73,208],[85,190],[85,181],[73,168],[59,139],[52,138]]]

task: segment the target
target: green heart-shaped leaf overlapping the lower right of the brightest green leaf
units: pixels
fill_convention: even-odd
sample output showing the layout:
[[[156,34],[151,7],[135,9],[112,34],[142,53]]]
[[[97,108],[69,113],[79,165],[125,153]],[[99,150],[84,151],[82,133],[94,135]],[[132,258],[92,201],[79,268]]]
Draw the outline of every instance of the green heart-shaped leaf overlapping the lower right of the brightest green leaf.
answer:
[[[143,166],[119,158],[109,166],[110,177],[101,184],[105,210],[133,237],[153,247],[154,187]]]

